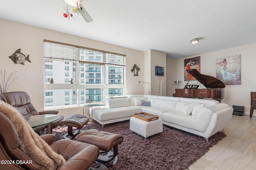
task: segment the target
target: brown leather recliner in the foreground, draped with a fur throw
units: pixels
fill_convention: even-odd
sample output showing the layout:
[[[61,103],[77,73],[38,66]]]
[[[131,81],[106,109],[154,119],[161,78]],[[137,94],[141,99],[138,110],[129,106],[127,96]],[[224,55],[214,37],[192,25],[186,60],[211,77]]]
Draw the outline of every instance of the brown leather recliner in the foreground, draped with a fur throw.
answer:
[[[47,170],[47,167],[36,163],[32,156],[28,156],[20,149],[20,139],[14,123],[2,112],[1,108],[0,110],[0,160],[4,161],[1,162],[0,169]],[[40,137],[50,145],[54,152],[62,155],[66,160],[58,167],[59,170],[87,170],[100,154],[98,147],[88,143],[61,139],[52,144],[54,135],[47,134]],[[23,163],[19,163],[20,160]],[[29,163],[31,161],[32,163]]]

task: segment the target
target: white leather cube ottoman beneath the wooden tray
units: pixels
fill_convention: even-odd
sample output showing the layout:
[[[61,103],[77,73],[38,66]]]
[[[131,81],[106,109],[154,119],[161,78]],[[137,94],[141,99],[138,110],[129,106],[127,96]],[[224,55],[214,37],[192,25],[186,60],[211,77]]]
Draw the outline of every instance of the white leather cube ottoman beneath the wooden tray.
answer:
[[[162,119],[144,121],[131,117],[130,130],[142,135],[143,137],[149,137],[163,131],[163,121]]]

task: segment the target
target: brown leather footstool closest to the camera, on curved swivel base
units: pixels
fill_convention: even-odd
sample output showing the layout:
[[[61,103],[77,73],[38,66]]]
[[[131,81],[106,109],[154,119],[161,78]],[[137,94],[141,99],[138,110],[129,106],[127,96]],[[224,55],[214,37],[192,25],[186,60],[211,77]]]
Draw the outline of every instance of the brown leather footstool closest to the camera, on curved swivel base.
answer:
[[[104,156],[100,155],[96,159],[96,162],[100,163],[100,169],[107,169],[108,167],[116,164],[116,162],[118,161],[118,144],[121,144],[123,142],[123,136],[120,134],[90,129],[80,133],[76,137],[76,141],[95,145],[100,149],[101,154],[106,154]],[[110,151],[112,148],[113,152]],[[112,160],[114,160],[112,164],[106,164]]]

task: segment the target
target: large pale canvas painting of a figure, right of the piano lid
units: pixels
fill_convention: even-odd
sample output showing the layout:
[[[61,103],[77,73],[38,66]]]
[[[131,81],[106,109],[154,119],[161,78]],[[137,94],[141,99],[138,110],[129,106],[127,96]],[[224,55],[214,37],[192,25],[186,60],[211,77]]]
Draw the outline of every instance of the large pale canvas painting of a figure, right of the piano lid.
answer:
[[[216,59],[216,78],[226,85],[241,84],[241,55]]]

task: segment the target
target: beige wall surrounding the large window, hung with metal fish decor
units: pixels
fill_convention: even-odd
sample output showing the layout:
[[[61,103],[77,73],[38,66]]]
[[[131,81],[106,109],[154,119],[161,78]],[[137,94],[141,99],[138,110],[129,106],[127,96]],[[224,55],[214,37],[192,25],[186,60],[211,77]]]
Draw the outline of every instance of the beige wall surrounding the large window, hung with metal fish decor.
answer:
[[[0,19],[0,70],[6,69],[7,75],[17,71],[15,76],[18,76],[8,91],[27,92],[38,111],[44,109],[44,39],[126,55],[126,92],[124,94],[143,94],[144,86],[137,84],[138,80],[144,81],[143,51]],[[17,49],[21,49],[24,55],[29,55],[32,63],[25,61],[25,65],[14,64],[8,56]],[[134,64],[138,64],[141,69],[139,76],[133,76],[130,71]],[[83,108],[59,110],[66,116],[82,113]],[[84,108],[84,111],[88,114],[87,108]]]

